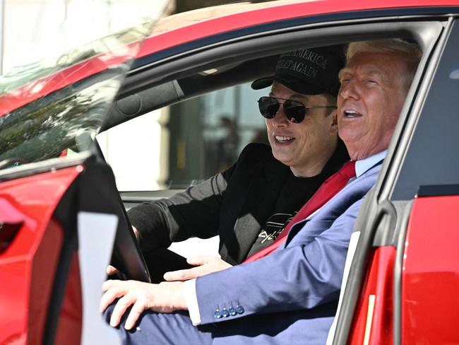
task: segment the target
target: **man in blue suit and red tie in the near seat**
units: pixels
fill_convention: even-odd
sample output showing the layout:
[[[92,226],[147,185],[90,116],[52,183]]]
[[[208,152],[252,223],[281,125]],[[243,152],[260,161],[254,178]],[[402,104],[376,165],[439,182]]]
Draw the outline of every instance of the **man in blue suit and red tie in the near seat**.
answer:
[[[354,42],[340,71],[338,130],[356,177],[270,255],[189,281],[106,281],[100,307],[126,344],[325,344],[347,246],[374,185],[420,51]],[[121,325],[120,325],[121,322]]]

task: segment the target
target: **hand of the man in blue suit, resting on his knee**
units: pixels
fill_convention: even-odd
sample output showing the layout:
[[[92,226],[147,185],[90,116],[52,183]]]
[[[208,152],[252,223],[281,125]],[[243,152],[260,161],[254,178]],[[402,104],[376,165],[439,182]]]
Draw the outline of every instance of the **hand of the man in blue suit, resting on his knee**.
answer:
[[[100,311],[103,312],[110,303],[119,298],[110,318],[110,326],[117,327],[124,312],[132,305],[124,325],[124,328],[131,329],[144,310],[188,310],[183,285],[179,281],[150,284],[141,281],[108,280],[102,284],[102,291],[105,293],[100,299]]]

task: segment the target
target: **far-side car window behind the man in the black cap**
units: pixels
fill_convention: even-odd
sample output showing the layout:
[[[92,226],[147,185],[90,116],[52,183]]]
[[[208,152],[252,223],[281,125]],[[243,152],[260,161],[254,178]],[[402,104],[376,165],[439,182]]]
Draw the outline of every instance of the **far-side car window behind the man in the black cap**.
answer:
[[[196,185],[229,168],[250,142],[268,144],[256,102],[268,92],[253,90],[250,83],[223,88],[99,134],[119,190]]]

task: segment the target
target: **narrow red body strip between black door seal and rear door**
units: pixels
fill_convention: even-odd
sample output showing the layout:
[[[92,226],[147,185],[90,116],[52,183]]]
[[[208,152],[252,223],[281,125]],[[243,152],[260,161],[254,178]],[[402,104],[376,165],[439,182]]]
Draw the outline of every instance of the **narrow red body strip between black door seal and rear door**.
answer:
[[[395,247],[392,246],[378,247],[374,251],[354,313],[349,344],[393,344],[395,252]],[[374,296],[374,304],[369,308],[370,296]],[[365,337],[368,342],[364,342]]]

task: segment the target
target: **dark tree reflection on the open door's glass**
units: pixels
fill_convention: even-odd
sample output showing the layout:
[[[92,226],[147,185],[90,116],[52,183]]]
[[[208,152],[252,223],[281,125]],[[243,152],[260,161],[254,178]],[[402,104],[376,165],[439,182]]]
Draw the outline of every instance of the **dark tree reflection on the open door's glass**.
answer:
[[[68,148],[88,150],[90,141],[81,136],[95,135],[119,82],[119,77],[109,78],[79,91],[71,86],[0,117],[0,161],[36,162]]]

